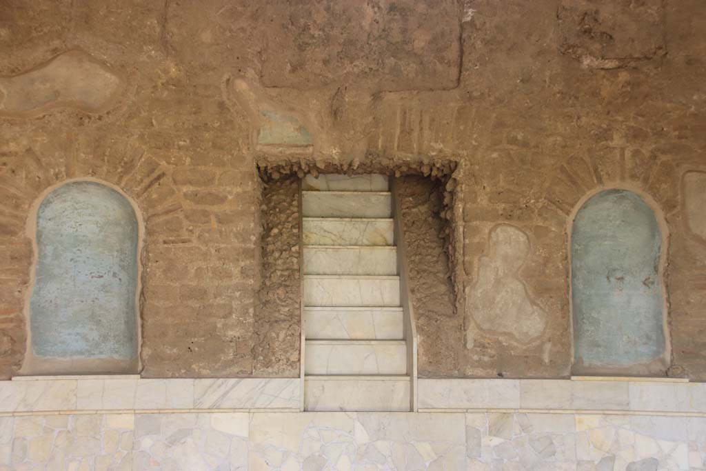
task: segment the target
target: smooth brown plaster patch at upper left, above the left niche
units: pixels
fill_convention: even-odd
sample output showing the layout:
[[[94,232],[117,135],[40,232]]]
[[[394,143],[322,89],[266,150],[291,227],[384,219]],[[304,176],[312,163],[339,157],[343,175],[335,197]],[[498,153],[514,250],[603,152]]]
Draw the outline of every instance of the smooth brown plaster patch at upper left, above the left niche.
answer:
[[[0,77],[0,116],[32,117],[68,107],[105,111],[118,97],[121,79],[82,51],[69,51],[30,71]]]

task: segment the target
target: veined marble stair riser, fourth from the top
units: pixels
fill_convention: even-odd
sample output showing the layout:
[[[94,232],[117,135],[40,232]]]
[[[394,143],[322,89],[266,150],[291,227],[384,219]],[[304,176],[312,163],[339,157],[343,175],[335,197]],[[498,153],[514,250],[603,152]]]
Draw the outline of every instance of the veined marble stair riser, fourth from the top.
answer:
[[[397,275],[397,248],[304,246],[304,275]]]

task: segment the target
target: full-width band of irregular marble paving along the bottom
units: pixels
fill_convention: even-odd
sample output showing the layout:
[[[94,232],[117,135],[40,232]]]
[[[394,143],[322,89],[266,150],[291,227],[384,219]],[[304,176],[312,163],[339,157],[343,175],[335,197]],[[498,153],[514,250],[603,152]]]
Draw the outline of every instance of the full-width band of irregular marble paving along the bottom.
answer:
[[[0,470],[699,470],[706,418],[522,412],[0,417]]]

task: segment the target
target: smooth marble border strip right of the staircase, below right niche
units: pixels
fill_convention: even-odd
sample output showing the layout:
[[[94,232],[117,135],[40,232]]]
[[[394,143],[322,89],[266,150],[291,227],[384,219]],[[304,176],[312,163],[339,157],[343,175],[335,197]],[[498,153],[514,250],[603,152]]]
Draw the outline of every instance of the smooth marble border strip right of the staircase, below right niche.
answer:
[[[706,383],[420,378],[419,410],[706,414]]]

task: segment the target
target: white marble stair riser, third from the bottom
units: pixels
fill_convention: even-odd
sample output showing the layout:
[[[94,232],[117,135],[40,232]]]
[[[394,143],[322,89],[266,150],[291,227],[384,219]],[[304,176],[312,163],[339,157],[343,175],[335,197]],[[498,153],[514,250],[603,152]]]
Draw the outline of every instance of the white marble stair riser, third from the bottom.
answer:
[[[307,339],[402,340],[401,307],[306,307]]]

